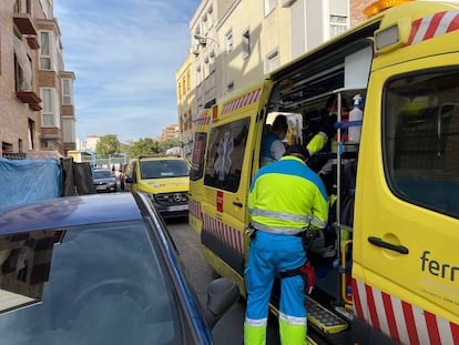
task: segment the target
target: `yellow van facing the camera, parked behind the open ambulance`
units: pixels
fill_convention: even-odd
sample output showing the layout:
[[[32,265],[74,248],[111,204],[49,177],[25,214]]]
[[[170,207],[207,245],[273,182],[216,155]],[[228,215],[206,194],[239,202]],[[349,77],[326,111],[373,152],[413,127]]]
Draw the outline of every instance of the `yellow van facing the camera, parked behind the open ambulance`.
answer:
[[[151,199],[163,217],[188,214],[190,165],[181,156],[149,155],[132,160],[125,187]]]

